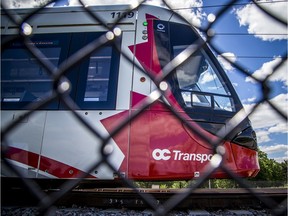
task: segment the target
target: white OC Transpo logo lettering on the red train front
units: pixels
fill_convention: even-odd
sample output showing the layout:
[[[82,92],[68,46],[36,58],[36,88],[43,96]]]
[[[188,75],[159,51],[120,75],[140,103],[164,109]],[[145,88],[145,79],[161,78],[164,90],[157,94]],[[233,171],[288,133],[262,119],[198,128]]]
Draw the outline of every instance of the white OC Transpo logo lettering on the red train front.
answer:
[[[175,161],[199,161],[203,163],[205,161],[210,161],[212,154],[196,154],[187,153],[180,150],[173,150],[172,152],[168,149],[154,149],[152,152],[152,157],[154,160],[175,160]]]

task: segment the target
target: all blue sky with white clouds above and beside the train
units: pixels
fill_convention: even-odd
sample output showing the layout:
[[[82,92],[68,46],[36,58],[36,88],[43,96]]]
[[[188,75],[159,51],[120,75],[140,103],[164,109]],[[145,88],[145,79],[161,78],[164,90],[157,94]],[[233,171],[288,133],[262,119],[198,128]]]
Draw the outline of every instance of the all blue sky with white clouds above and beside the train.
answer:
[[[10,0],[9,7],[35,7],[45,0]],[[86,0],[85,4],[137,4],[137,0]],[[151,4],[161,5],[161,0],[149,0]],[[240,0],[230,6],[218,17],[219,11],[228,0],[167,0],[179,13],[196,27],[206,29],[208,24],[214,32],[210,46],[223,65],[236,89],[247,113],[262,100],[262,88],[259,82],[240,72],[224,57],[240,66],[258,80],[264,80],[269,74],[268,86],[271,91],[269,101],[287,116],[287,27],[267,16],[255,4]],[[279,19],[286,21],[288,2],[282,0],[258,0],[257,3]],[[79,5],[77,0],[61,0],[54,6]],[[53,6],[53,4],[51,5]],[[181,9],[181,10],[179,10]],[[217,51],[217,52],[216,52]],[[281,61],[284,63],[277,67]],[[286,61],[285,61],[286,60]],[[256,131],[258,146],[269,158],[278,162],[287,160],[287,121],[277,114],[268,103],[261,103],[250,116]]]

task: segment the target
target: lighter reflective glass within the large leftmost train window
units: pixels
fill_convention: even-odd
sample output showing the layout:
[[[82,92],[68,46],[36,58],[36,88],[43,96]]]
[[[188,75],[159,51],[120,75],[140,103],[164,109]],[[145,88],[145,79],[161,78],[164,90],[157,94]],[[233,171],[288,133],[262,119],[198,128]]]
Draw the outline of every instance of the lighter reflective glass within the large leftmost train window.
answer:
[[[58,65],[61,48],[39,48],[53,65]],[[1,58],[2,102],[39,101],[52,93],[52,81],[34,57],[24,48],[11,48]]]

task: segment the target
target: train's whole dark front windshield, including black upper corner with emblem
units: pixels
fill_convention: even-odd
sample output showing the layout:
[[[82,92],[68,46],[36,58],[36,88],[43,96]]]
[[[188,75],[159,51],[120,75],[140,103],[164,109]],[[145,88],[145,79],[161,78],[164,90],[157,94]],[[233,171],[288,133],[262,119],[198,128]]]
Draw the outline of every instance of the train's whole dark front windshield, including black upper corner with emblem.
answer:
[[[154,21],[154,36],[162,68],[168,63],[166,53],[170,55],[169,61],[176,57],[180,59],[200,37],[187,25],[162,20]],[[170,80],[175,98],[187,112],[194,113],[191,115],[196,115],[196,110],[199,113],[222,111],[232,115],[239,101],[230,81],[208,47],[196,48],[192,55],[184,58]]]

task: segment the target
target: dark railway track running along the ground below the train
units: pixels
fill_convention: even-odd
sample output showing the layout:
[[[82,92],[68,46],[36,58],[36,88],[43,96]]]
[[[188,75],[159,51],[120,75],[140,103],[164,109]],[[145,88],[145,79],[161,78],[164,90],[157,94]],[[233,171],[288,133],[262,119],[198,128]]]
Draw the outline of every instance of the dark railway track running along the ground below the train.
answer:
[[[192,193],[188,193],[189,195],[187,190],[139,188],[135,190],[127,188],[74,189],[60,198],[54,206],[58,208],[82,206],[99,209],[112,207],[119,209],[119,211],[121,209],[157,209],[158,213],[161,214],[161,209],[169,209],[169,203],[179,202],[177,208],[171,210],[187,212],[188,210],[198,211],[199,209],[204,209],[205,211],[233,209],[233,211],[240,211],[241,215],[245,215],[243,211],[247,209],[265,210],[266,213],[264,215],[286,215],[287,213],[287,189],[253,189],[255,191],[254,195],[247,189],[197,189]],[[45,192],[53,195],[58,193],[59,190],[45,190]],[[23,189],[2,190],[2,208],[4,207],[4,209],[9,209],[12,206],[36,207],[38,204],[39,201]]]

